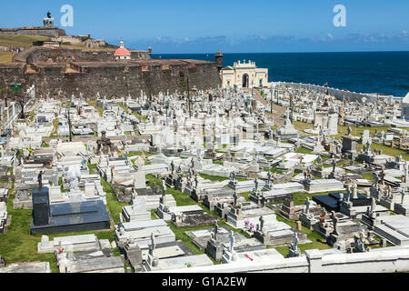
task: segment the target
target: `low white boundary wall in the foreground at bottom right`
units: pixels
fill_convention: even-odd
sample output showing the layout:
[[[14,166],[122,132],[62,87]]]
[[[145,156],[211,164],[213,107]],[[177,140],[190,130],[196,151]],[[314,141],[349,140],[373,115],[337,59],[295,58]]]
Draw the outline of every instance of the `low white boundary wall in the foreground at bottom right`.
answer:
[[[394,273],[409,271],[409,249],[388,247],[367,253],[323,255],[307,250],[305,256],[197,266],[154,273]]]

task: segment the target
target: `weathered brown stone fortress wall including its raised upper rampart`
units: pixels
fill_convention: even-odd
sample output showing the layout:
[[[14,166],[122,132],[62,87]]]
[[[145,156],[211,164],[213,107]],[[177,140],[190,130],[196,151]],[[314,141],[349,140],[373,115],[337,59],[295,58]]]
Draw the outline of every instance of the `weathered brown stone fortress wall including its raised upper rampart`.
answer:
[[[32,47],[15,55],[14,63],[0,65],[0,87],[35,85],[36,95],[94,97],[184,92],[216,88],[221,78],[216,63],[197,60],[155,60],[147,52],[139,58],[115,61],[114,52]],[[184,73],[181,76],[181,73]]]

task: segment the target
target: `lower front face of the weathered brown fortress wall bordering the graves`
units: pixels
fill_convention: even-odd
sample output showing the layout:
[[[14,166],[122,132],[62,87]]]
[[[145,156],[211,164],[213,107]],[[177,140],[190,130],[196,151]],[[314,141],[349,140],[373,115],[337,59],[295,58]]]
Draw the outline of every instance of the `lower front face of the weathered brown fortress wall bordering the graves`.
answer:
[[[87,63],[88,64],[88,63]],[[189,76],[190,88],[210,89],[221,85],[215,63],[196,65],[133,65],[133,64],[32,64],[30,71],[26,65],[0,66],[0,88],[18,82],[24,88],[35,85],[36,95],[79,95],[94,97],[97,92],[106,96],[147,95],[159,92],[184,92]],[[28,73],[27,73],[28,72]],[[180,76],[184,73],[185,76]]]

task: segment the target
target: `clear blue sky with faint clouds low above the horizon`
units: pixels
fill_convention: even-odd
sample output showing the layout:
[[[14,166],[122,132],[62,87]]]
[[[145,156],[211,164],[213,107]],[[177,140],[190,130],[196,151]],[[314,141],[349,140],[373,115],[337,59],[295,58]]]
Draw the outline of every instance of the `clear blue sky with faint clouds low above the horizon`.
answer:
[[[42,25],[49,10],[60,25],[74,8],[69,35],[121,39],[154,53],[396,51],[409,48],[407,0],[20,0],[1,1],[0,27]],[[334,5],[346,8],[335,27]]]

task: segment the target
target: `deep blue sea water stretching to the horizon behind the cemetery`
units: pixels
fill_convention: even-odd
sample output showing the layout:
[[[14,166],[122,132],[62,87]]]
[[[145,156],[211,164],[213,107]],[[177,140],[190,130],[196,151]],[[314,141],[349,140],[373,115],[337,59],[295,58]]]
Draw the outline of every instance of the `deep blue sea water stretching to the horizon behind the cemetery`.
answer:
[[[214,54],[153,55],[214,62]],[[224,54],[224,66],[251,60],[268,68],[269,81],[328,85],[359,93],[409,92],[409,52]]]

